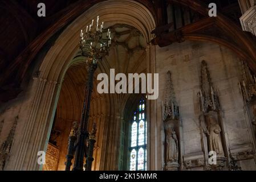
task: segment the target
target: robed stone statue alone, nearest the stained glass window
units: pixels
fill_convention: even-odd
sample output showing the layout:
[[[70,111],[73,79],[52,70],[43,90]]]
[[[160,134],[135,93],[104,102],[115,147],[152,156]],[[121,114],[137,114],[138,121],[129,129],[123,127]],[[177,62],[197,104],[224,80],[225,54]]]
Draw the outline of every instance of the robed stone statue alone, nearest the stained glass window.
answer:
[[[172,127],[166,130],[166,162],[178,162],[178,139]]]

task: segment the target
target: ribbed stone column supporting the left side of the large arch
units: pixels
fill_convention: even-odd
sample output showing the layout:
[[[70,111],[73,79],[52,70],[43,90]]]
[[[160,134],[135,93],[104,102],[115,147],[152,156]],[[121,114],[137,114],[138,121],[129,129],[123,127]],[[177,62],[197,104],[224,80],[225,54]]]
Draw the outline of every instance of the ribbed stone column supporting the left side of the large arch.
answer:
[[[26,126],[23,130],[18,154],[15,156],[14,170],[40,170],[37,163],[38,151],[46,151],[51,132],[56,108],[56,81],[48,81],[43,78],[34,78],[36,90],[30,106],[30,114],[27,117]]]

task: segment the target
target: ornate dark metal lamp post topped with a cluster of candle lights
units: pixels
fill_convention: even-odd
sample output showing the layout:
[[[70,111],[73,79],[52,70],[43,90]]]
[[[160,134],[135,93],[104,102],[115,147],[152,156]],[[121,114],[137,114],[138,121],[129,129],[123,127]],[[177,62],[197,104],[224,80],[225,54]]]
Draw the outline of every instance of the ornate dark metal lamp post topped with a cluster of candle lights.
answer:
[[[81,30],[80,34],[80,42],[79,42],[79,49],[82,52],[82,56],[86,57],[86,67],[88,71],[88,82],[86,86],[86,94],[84,96],[83,102],[83,111],[82,117],[80,119],[80,126],[79,126],[79,133],[78,133],[78,141],[75,146],[72,146],[72,141],[74,138],[70,138],[71,145],[68,146],[69,155],[67,155],[67,162],[66,162],[66,169],[70,170],[71,166],[71,154],[72,150],[75,151],[75,163],[73,171],[82,171],[83,170],[83,159],[86,156],[87,164],[86,170],[91,170],[91,162],[92,158],[92,151],[89,152],[91,156],[87,156],[88,149],[91,149],[92,143],[94,145],[95,142],[88,142],[89,146],[87,147],[87,141],[89,137],[88,133],[88,118],[89,118],[89,111],[90,111],[90,102],[91,102],[91,94],[92,94],[92,86],[93,86],[93,78],[94,72],[97,68],[97,64],[102,60],[102,57],[108,55],[109,46],[111,45],[111,32],[109,29],[106,31],[104,30],[104,23],[101,22],[99,28],[99,16],[97,16],[97,22],[94,26],[94,20],[92,23],[86,27],[86,32]],[[93,132],[92,132],[93,133]]]

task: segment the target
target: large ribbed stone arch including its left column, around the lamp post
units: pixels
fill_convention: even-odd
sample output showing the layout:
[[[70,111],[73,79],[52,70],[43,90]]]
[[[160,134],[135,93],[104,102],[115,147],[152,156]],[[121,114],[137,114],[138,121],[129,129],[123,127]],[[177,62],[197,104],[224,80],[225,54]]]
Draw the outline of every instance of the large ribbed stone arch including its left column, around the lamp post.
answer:
[[[82,28],[86,28],[86,24],[89,24],[91,19],[97,15],[100,15],[101,20],[106,24],[123,23],[141,31],[148,44],[147,72],[155,72],[155,67],[151,67],[152,64],[155,64],[155,47],[149,43],[152,39],[151,31],[155,28],[155,20],[150,11],[139,2],[128,0],[110,0],[92,6],[62,32],[44,57],[39,68],[40,74],[32,82],[34,92],[31,96],[33,97],[31,110],[26,126],[22,129],[21,142],[16,143],[18,150],[15,151],[16,154],[13,154],[14,160],[13,163],[10,163],[9,168],[15,170],[38,170],[41,168],[36,163],[37,152],[46,151],[62,80],[67,69],[74,63],[72,60],[78,52],[79,32]],[[104,70],[104,68],[107,67],[103,66],[100,69]],[[113,96],[108,96],[105,100],[107,100],[106,108],[110,113],[109,117],[112,117],[113,109],[119,107],[118,100]],[[113,121],[115,120],[113,119]],[[105,156],[101,156],[100,160],[111,161]],[[111,169],[111,166],[113,167],[111,163],[104,164],[104,168],[107,169]]]

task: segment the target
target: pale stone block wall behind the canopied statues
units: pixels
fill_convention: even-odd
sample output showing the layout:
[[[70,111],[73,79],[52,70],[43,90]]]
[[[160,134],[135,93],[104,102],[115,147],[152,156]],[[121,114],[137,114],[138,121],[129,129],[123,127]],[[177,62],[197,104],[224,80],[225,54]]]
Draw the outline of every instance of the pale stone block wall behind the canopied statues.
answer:
[[[251,146],[243,111],[243,100],[238,87],[241,79],[241,61],[229,49],[218,46],[218,44],[190,41],[174,43],[156,49],[156,72],[159,73],[160,79],[157,113],[161,113],[164,97],[165,82],[162,80],[165,79],[166,72],[170,71],[182,122],[181,161],[185,156],[202,154],[200,108],[197,96],[201,84],[202,60],[208,64],[213,86],[218,90],[220,97],[223,111],[222,121],[227,140],[226,148],[232,150],[241,148],[241,146]],[[162,122],[161,114],[157,115],[157,121]],[[164,143],[163,128],[161,131]],[[164,144],[159,150],[162,154],[162,163],[164,163]],[[256,169],[253,159],[250,162],[241,160],[240,164],[243,169]],[[181,168],[185,169],[185,166]]]

